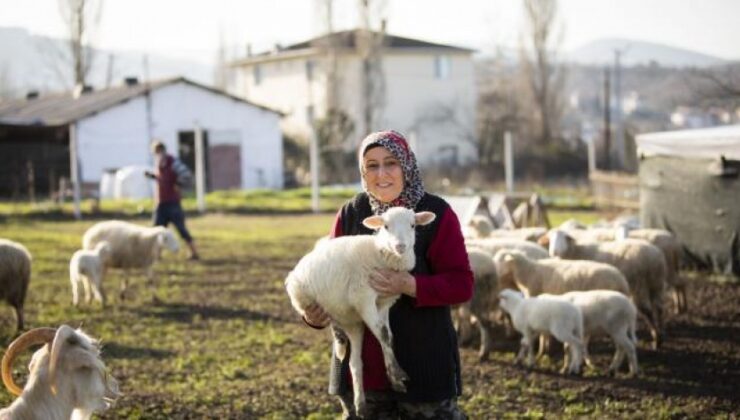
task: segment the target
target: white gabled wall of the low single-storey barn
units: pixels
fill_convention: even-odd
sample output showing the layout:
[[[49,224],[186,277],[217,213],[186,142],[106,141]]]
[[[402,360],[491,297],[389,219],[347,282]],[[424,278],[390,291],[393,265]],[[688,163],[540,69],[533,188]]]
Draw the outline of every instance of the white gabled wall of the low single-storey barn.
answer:
[[[151,95],[152,137],[176,153],[178,133],[196,124],[211,145],[241,145],[241,188],[282,188],[283,153],[279,115],[186,83]],[[146,101],[133,99],[79,122],[84,182],[97,182],[106,168],[151,165]]]

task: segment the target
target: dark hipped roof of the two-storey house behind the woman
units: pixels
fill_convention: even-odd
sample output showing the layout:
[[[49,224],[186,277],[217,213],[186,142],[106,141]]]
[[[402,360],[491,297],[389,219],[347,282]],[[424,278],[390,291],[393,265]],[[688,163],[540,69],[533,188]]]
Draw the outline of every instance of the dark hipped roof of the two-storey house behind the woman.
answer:
[[[237,63],[249,63],[251,61],[261,61],[266,58],[276,58],[284,56],[293,56],[300,54],[315,48],[331,45],[339,49],[350,49],[354,50],[357,48],[358,38],[365,31],[362,29],[353,29],[349,31],[334,32],[328,35],[312,38],[306,41],[302,41],[296,44],[281,47],[278,50],[265,51],[253,55],[251,57],[237,60]],[[375,35],[379,35],[378,32],[372,32]],[[470,48],[457,47],[454,45],[437,44],[433,42],[422,41],[413,38],[404,38],[396,35],[385,34],[383,36],[383,46],[396,51],[403,50],[418,50],[418,49],[435,49],[444,50],[447,52],[457,53],[474,53],[475,50]]]

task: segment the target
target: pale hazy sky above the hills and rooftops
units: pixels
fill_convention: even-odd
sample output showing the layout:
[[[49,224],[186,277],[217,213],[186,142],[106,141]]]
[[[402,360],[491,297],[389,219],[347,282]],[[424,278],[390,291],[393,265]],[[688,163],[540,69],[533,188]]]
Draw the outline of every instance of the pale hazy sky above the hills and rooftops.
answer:
[[[335,0],[335,27],[357,26],[357,0]],[[105,0],[95,45],[210,61],[223,38],[241,53],[320,30],[315,0]],[[392,34],[489,50],[515,46],[521,0],[386,0]],[[628,38],[740,59],[740,0],[560,0],[562,47]],[[0,26],[62,36],[58,0],[0,0]]]

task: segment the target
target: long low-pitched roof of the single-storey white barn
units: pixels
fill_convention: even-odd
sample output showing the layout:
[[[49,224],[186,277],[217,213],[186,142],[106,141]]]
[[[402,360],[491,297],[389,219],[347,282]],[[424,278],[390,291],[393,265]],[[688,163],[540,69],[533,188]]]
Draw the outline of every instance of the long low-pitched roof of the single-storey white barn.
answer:
[[[185,83],[235,101],[256,106],[265,111],[281,114],[278,111],[257,105],[224,91],[201,85],[184,77],[122,85],[108,89],[94,90],[75,98],[72,92],[41,95],[34,99],[14,99],[0,101],[0,124],[59,126],[81,120],[99,112],[123,104],[131,99],[153,92],[159,88]],[[282,114],[281,114],[282,115]]]

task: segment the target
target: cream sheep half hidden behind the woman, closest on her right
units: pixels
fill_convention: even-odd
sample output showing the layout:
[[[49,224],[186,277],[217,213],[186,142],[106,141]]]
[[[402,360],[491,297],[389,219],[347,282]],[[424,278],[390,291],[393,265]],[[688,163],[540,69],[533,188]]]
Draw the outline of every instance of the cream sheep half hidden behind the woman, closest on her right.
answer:
[[[486,360],[491,352],[491,313],[498,308],[498,278],[496,266],[491,255],[483,250],[468,248],[468,261],[475,279],[473,298],[466,303],[453,307],[457,319],[460,341],[470,338],[470,324],[474,320],[480,332],[480,350],[478,358]]]

